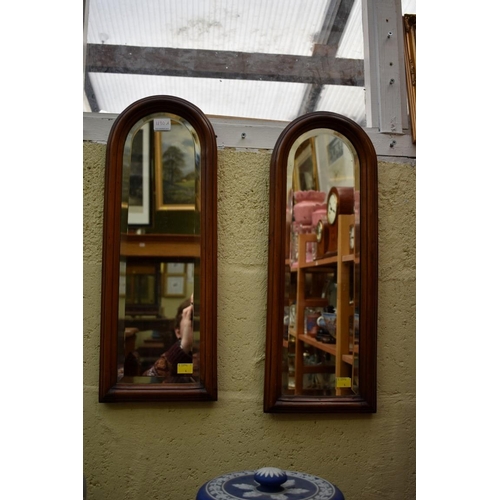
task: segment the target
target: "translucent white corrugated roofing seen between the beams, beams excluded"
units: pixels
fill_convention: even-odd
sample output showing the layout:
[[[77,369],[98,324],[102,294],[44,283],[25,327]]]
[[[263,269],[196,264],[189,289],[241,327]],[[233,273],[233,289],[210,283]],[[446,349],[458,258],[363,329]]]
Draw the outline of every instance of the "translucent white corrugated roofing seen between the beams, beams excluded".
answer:
[[[416,0],[402,0],[414,13]],[[88,42],[310,56],[330,0],[90,0]],[[354,0],[337,57],[363,59],[361,0]],[[297,117],[301,83],[91,73],[101,110],[120,113],[141,97],[170,94],[206,114],[270,120]],[[321,82],[319,82],[321,83]],[[362,87],[324,86],[317,110],[365,124]]]

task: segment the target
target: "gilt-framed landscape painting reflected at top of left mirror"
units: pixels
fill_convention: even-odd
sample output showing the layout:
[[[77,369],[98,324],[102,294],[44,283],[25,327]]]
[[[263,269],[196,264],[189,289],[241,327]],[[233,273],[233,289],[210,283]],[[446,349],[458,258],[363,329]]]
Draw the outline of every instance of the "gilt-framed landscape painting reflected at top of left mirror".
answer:
[[[156,210],[195,210],[199,198],[200,148],[184,121],[155,130]]]

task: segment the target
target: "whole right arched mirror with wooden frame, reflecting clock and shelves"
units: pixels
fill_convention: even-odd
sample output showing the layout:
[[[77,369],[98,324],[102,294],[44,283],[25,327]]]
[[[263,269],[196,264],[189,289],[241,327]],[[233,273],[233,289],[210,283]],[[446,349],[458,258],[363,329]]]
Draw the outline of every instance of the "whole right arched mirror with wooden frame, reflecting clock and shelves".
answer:
[[[352,120],[291,122],[271,158],[264,411],[376,411],[377,157]]]

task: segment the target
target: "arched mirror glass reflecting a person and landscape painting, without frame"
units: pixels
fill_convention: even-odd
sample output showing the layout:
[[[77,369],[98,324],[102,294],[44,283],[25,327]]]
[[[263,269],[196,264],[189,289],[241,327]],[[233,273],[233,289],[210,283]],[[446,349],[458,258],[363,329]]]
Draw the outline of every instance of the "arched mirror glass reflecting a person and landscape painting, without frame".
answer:
[[[197,383],[201,176],[196,131],[172,113],[143,118],[127,136],[122,176],[118,381]],[[180,320],[191,302],[192,340],[185,339],[187,352],[181,352]],[[178,363],[170,359],[174,355],[182,355],[185,373],[178,373]]]

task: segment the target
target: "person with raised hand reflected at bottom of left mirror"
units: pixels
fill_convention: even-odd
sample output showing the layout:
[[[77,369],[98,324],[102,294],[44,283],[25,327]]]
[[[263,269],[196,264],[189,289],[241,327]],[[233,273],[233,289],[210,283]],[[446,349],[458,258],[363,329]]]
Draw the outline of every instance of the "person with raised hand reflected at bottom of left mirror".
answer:
[[[178,365],[193,365],[193,312],[193,296],[191,295],[191,298],[183,301],[177,309],[174,325],[177,342],[143,373],[144,376],[161,377],[164,379],[163,382],[170,383],[195,381],[192,373],[178,373]]]

